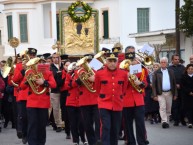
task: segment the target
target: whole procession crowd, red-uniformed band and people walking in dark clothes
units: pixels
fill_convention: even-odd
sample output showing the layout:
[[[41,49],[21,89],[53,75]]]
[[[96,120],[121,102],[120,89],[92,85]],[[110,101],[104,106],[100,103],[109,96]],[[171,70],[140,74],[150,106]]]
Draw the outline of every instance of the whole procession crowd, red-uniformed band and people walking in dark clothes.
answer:
[[[162,57],[145,66],[133,46],[124,53],[119,43],[102,51],[105,61],[98,70],[85,67],[93,54],[75,62],[65,54],[36,56],[37,50],[28,48],[4,78],[2,60],[0,132],[11,122],[23,144],[45,145],[51,125],[56,132],[65,130],[74,145],[118,145],[119,139],[146,145],[145,120],[164,129],[171,121],[193,127],[193,55],[187,66],[178,54],[171,63]],[[136,64],[142,71],[131,74],[129,66]]]

